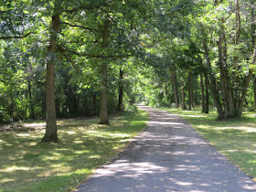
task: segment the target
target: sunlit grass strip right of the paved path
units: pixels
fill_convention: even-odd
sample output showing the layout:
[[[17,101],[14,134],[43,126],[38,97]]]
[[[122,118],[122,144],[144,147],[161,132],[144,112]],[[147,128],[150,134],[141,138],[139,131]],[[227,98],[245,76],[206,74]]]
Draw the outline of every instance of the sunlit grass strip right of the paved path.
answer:
[[[208,114],[198,111],[165,109],[187,119],[197,132],[213,144],[221,154],[226,155],[247,175],[256,179],[256,117],[244,112],[241,119],[217,121],[217,112]]]

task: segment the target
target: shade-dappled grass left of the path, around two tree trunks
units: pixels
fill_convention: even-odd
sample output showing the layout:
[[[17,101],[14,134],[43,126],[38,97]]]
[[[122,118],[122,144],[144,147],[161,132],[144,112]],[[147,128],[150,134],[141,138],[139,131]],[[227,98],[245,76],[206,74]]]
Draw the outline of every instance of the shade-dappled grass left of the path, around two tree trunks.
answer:
[[[110,126],[95,118],[60,120],[58,144],[40,142],[42,122],[0,133],[0,191],[73,190],[120,153],[146,122],[145,112],[112,117]]]

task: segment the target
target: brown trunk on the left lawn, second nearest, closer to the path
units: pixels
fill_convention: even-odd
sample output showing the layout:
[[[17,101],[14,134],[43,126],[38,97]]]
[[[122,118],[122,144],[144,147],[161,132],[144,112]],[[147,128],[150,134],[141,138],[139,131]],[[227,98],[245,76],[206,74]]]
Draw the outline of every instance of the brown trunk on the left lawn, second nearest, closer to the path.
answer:
[[[107,19],[104,24],[104,30],[102,32],[102,48],[108,48],[108,38],[110,32],[110,20]],[[108,64],[107,60],[102,59],[102,90],[101,90],[101,111],[99,124],[110,124],[108,118],[108,94],[107,94],[107,72]]]

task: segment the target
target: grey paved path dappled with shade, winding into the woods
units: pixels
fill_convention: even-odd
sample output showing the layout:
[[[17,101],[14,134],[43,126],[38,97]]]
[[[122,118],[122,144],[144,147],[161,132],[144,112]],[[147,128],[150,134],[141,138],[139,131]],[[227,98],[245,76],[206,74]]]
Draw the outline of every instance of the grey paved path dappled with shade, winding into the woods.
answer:
[[[256,191],[255,183],[174,114],[150,113],[143,133],[79,191]]]

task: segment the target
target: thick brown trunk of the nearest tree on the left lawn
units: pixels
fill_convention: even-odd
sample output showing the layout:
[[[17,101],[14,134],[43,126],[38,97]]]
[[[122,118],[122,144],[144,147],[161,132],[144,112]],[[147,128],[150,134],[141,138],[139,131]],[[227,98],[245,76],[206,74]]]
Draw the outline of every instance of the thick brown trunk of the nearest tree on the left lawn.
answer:
[[[56,122],[56,105],[55,105],[55,85],[54,85],[54,68],[56,58],[56,39],[59,32],[60,18],[58,13],[59,5],[55,5],[54,14],[51,17],[51,34],[49,38],[48,59],[47,62],[47,127],[42,142],[58,142],[57,122]]]

